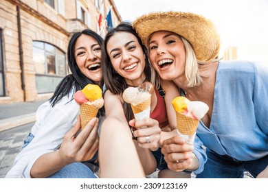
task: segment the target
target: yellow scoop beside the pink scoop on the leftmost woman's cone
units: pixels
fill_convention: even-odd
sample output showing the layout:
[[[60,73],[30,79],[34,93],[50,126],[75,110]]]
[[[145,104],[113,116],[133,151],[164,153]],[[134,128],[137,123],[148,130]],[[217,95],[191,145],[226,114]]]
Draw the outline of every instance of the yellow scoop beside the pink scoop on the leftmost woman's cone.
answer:
[[[82,89],[82,93],[89,99],[89,101],[95,101],[96,99],[102,98],[102,90],[100,86],[96,84],[87,84],[87,86]]]

